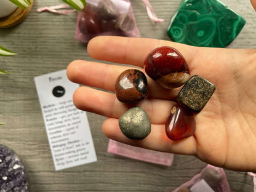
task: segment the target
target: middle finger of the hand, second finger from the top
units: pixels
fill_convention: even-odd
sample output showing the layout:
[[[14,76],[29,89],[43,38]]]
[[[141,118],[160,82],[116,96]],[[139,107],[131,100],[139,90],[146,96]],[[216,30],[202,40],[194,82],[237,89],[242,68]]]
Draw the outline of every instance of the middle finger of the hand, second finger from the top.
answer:
[[[67,75],[70,81],[78,84],[114,92],[116,78],[118,78],[122,71],[130,68],[137,68],[145,74],[143,68],[138,68],[137,66],[109,65],[106,63],[75,60],[68,66]],[[167,100],[175,100],[175,98],[177,98],[178,90],[180,89],[167,90],[159,86],[147,75],[146,79],[148,81],[149,98],[161,98]]]

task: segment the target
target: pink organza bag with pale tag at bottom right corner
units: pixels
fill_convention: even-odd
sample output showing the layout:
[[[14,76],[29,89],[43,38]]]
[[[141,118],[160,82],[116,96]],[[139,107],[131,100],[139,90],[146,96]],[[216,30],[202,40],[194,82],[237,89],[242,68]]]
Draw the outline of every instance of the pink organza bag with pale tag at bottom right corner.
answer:
[[[207,165],[191,180],[173,192],[230,192],[226,174],[222,168]]]

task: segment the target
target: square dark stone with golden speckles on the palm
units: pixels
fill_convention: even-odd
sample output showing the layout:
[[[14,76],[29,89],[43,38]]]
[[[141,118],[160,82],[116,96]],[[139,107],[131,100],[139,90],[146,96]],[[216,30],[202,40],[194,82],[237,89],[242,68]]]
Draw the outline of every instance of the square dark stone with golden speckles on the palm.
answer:
[[[216,87],[211,82],[194,75],[178,93],[178,102],[195,113],[199,113],[206,105]]]

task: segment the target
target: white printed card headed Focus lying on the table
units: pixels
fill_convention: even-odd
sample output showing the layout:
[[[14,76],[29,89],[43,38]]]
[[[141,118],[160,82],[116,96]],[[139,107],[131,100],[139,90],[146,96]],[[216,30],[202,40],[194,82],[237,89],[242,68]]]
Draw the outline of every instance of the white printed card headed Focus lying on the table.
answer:
[[[34,78],[55,170],[97,161],[86,112],[73,104],[79,85],[66,70]]]

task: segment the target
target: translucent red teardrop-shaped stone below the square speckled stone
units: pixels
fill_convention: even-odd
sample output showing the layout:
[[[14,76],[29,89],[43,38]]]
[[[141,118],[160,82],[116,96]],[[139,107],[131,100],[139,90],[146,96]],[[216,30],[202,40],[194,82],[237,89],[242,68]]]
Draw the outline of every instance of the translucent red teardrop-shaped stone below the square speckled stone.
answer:
[[[166,121],[166,135],[171,140],[190,137],[196,130],[193,113],[180,105],[174,105]]]

